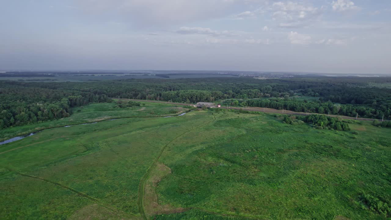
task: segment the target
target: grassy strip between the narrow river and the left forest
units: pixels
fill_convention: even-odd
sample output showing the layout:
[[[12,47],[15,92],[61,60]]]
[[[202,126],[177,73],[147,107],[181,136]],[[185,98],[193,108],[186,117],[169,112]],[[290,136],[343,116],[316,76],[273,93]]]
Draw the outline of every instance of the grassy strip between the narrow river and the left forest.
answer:
[[[115,100],[117,101],[117,100]],[[125,101],[126,103],[126,101]],[[73,124],[93,123],[108,119],[118,119],[125,117],[158,117],[165,115],[178,115],[189,109],[183,109],[181,106],[175,106],[165,103],[143,103],[140,106],[131,108],[114,108],[117,103],[95,103],[87,106],[73,108],[70,117],[59,120],[48,121],[39,124],[30,124],[16,126],[0,130],[0,141],[10,139],[11,137],[26,135],[31,132],[37,132],[46,128],[56,128]],[[172,113],[177,111],[178,113]]]

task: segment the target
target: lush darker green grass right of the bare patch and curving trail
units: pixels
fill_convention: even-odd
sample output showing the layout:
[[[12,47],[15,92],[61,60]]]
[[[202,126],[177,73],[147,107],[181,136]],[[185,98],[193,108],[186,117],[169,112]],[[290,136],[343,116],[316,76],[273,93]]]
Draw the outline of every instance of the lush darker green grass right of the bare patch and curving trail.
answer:
[[[357,201],[367,193],[390,204],[389,130],[365,125],[353,139],[268,116],[224,117],[210,129],[245,134],[172,148],[178,155],[189,146],[162,161],[172,169],[158,187],[163,204],[266,219],[383,219]]]

